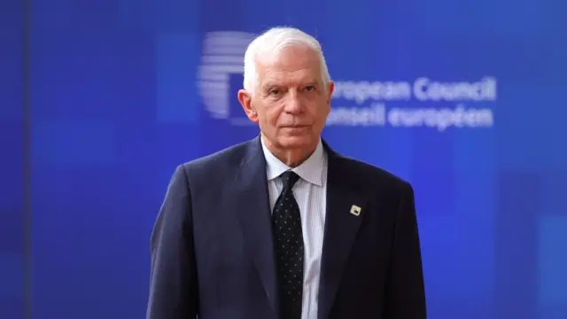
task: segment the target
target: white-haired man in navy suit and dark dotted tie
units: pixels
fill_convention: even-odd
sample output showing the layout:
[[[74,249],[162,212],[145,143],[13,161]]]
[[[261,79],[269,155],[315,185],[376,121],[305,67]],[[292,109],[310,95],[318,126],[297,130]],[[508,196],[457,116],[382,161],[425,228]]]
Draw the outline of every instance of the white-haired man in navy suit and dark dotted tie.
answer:
[[[250,43],[238,100],[260,135],[176,168],[151,234],[148,319],[423,319],[412,187],[321,138],[320,44]]]

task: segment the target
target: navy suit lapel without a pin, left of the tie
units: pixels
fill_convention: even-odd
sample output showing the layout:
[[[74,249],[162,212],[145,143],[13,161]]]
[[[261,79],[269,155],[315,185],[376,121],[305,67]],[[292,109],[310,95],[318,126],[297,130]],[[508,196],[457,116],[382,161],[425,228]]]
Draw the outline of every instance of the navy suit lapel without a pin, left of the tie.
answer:
[[[279,303],[266,160],[259,137],[247,146],[237,184],[237,213],[246,249],[258,270],[269,304],[277,315]]]

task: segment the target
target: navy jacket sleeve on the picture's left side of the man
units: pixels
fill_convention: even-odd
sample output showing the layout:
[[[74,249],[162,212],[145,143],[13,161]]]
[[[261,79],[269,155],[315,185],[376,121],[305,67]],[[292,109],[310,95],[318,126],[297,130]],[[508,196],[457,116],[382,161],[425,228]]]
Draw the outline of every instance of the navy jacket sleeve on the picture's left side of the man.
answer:
[[[151,232],[150,296],[146,319],[194,319],[198,283],[189,180],[179,166]]]

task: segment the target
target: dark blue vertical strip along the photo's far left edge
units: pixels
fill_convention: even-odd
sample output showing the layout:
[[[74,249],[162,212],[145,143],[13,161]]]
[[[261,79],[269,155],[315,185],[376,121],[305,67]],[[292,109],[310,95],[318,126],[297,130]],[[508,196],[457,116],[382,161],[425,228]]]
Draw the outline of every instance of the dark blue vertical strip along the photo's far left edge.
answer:
[[[0,318],[23,318],[24,14],[0,1]]]

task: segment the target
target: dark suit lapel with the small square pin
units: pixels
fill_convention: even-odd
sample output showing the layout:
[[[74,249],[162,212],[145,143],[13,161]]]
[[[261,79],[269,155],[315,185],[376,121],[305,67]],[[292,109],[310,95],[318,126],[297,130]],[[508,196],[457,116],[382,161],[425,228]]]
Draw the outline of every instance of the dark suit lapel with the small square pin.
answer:
[[[319,287],[318,318],[329,317],[340,279],[364,217],[366,200],[351,182],[346,159],[333,152],[327,144],[329,169],[327,173],[327,213],[322,247],[321,284]],[[361,214],[351,213],[353,206]],[[354,207],[356,210],[356,207]]]

